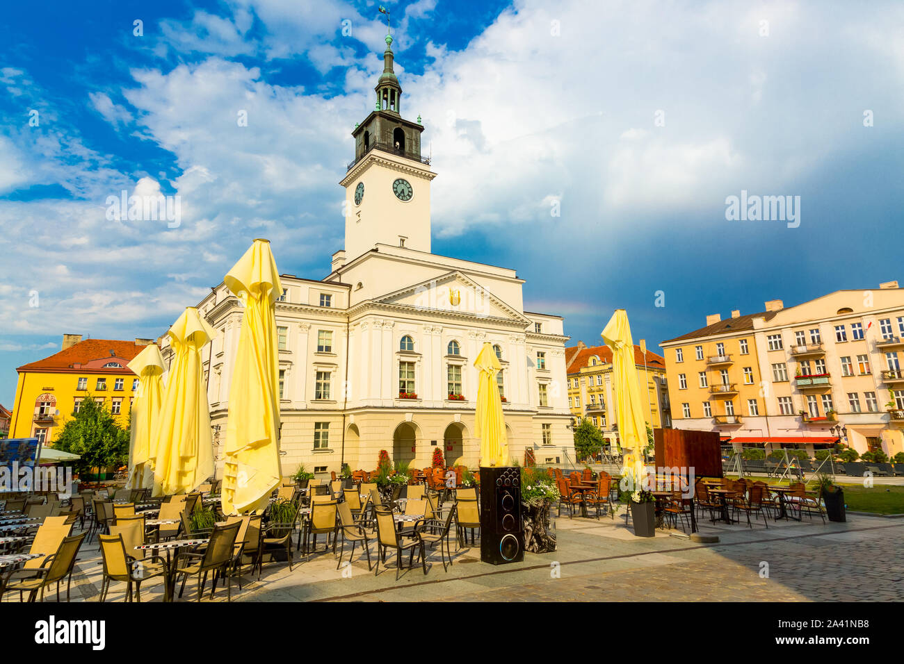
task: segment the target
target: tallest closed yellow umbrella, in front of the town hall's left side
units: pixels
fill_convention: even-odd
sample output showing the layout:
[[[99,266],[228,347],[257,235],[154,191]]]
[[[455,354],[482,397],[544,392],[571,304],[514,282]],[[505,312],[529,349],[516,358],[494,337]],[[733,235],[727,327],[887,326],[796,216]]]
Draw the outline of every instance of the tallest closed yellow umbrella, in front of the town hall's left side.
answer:
[[[279,486],[279,349],[276,299],[282,294],[266,239],[256,239],[224,277],[244,304],[229,391],[222,510],[263,510]]]

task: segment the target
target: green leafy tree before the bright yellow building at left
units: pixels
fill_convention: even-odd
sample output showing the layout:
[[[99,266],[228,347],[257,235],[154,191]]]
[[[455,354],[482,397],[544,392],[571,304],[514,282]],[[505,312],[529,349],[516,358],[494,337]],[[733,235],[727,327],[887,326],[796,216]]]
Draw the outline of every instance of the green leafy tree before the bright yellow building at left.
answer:
[[[107,407],[89,397],[63,426],[53,446],[79,454],[81,458],[72,463],[73,468],[77,472],[90,472],[95,466],[116,467],[127,463],[128,437],[128,427],[119,426]]]

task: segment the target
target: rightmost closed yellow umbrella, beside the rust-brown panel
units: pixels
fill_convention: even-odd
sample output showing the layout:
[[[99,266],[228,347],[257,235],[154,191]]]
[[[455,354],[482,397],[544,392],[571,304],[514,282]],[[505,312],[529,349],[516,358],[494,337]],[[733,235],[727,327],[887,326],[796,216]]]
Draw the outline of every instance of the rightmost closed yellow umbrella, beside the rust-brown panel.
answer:
[[[634,358],[634,341],[627,312],[617,309],[601,336],[612,349],[612,375],[617,386],[615,394],[616,422],[621,448],[629,453],[625,457],[623,478],[631,478],[631,491],[642,488],[645,478],[644,449],[646,447],[646,419],[644,404],[640,400],[637,369]]]

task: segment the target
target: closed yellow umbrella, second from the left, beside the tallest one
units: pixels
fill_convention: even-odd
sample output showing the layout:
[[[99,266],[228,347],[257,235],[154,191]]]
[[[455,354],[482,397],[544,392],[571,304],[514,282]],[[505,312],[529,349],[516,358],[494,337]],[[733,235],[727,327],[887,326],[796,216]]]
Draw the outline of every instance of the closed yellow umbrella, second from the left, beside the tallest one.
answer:
[[[193,491],[213,474],[211,413],[201,351],[216,331],[193,306],[167,332],[173,363],[151,435],[154,495]]]

